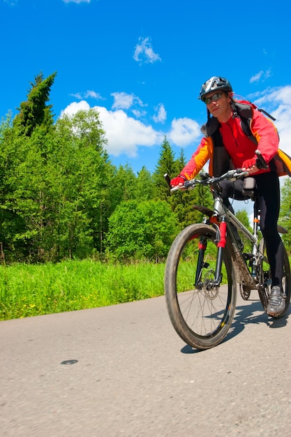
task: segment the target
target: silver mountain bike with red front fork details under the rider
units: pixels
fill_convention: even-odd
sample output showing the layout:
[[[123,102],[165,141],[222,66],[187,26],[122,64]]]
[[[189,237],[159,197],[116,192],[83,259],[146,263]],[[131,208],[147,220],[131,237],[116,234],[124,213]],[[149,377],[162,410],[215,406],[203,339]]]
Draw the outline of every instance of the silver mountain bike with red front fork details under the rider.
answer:
[[[230,170],[220,177],[205,174],[171,190],[202,185],[208,186],[214,197],[213,209],[194,206],[204,214],[202,223],[188,225],[177,235],[165,266],[164,289],[170,320],[181,339],[193,348],[212,348],[223,341],[236,309],[237,284],[244,299],[248,299],[251,290],[258,290],[262,307],[267,310],[271,272],[264,238],[260,236],[255,188],[246,191],[253,200],[253,232],[223,205],[219,189],[223,180],[235,181],[247,176],[241,169]],[[234,228],[251,244],[250,253],[243,252]],[[278,232],[288,231],[278,225]],[[290,264],[285,247],[283,269],[285,311],[273,318],[281,318],[290,304]]]

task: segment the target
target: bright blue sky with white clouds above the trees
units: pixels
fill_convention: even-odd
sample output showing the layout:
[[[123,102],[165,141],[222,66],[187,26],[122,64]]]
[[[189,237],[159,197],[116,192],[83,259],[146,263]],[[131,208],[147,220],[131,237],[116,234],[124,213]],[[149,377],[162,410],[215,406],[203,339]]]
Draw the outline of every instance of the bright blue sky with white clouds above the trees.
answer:
[[[0,0],[0,116],[57,71],[55,117],[98,108],[115,165],[154,171],[166,135],[190,158],[201,84],[227,77],[276,117],[291,154],[290,0]]]

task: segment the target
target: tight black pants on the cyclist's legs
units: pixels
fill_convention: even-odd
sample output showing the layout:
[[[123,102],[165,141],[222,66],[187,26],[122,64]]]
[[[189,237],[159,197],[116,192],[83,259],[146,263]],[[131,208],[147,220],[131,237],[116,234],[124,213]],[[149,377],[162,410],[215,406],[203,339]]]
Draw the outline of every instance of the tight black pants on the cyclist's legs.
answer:
[[[272,286],[282,287],[284,253],[283,243],[277,230],[280,212],[280,184],[276,172],[263,173],[255,177],[260,210],[260,230],[266,242],[267,255],[271,269]],[[225,206],[233,212],[230,199],[245,200],[241,179],[221,182],[222,198]]]

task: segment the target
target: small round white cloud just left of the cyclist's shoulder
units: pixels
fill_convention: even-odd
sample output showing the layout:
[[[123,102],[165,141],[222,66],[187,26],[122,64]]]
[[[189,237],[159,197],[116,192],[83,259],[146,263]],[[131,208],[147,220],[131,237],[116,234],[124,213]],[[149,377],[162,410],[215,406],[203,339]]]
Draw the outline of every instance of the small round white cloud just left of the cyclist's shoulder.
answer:
[[[170,138],[175,145],[185,147],[201,137],[200,126],[197,124],[197,121],[186,117],[174,119],[172,121],[172,128],[167,134],[167,137]]]

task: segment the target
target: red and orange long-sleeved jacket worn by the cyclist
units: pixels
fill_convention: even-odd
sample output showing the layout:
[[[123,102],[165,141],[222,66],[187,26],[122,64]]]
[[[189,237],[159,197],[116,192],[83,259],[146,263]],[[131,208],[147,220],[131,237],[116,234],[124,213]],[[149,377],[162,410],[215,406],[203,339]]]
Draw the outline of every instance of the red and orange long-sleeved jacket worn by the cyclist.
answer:
[[[223,168],[223,165],[227,166],[223,171],[227,171],[230,168],[242,168],[245,167],[246,161],[251,160],[255,163],[257,156],[255,150],[259,149],[264,160],[267,164],[270,164],[271,170],[277,170],[278,175],[290,175],[291,176],[291,161],[290,158],[278,149],[278,132],[271,120],[264,117],[262,112],[255,109],[254,105],[251,105],[245,101],[239,101],[237,103],[246,104],[246,110],[250,117],[250,129],[253,134],[253,140],[248,138],[244,133],[241,117],[230,117],[226,123],[220,123],[219,132],[224,147],[218,147],[217,135],[206,136],[202,138],[200,145],[192,155],[191,160],[186,164],[184,169],[180,172],[181,176],[186,179],[193,179],[203,166],[209,161],[209,174],[218,176],[222,174],[222,171],[217,170]],[[255,144],[255,141],[257,144]],[[220,149],[224,149],[224,154],[217,153]],[[231,158],[232,163],[225,163],[225,149]],[[275,158],[274,161],[272,159]],[[221,162],[218,162],[221,161]],[[271,162],[270,162],[271,161]],[[249,165],[247,165],[248,167]],[[254,175],[258,175],[262,172],[268,172],[270,170],[259,170]],[[218,173],[218,174],[217,174]]]

